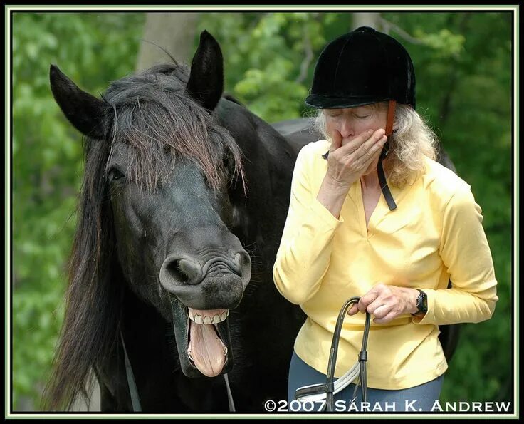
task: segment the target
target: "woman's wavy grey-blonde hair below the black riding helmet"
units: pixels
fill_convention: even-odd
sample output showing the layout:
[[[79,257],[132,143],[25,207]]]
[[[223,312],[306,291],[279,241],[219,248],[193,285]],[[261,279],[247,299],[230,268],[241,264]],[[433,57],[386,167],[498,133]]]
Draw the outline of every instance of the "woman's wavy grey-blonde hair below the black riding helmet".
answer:
[[[387,103],[375,103],[372,106],[387,109]],[[325,130],[323,110],[319,109],[313,119],[315,129],[322,133],[326,140],[331,141]],[[409,105],[397,104],[393,130],[394,133],[389,138],[389,155],[384,161],[384,168],[389,182],[402,188],[424,173],[424,156],[435,160],[439,140]]]

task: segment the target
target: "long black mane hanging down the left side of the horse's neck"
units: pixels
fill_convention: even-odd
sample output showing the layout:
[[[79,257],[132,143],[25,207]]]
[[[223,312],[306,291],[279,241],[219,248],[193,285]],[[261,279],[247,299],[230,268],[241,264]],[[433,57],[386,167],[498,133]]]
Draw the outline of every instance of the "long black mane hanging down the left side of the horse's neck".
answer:
[[[116,347],[122,311],[122,286],[112,281],[114,234],[103,171],[107,143],[93,143],[86,154],[78,224],[68,263],[66,315],[43,395],[43,410],[70,409],[95,363]]]

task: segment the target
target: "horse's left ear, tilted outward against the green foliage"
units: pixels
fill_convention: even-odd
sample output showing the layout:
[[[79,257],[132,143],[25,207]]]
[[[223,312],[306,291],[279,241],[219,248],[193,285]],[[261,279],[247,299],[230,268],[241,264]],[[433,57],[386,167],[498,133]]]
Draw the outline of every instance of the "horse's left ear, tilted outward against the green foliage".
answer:
[[[90,138],[105,138],[105,117],[111,106],[80,90],[57,66],[49,69],[51,91],[66,118],[80,133]]]

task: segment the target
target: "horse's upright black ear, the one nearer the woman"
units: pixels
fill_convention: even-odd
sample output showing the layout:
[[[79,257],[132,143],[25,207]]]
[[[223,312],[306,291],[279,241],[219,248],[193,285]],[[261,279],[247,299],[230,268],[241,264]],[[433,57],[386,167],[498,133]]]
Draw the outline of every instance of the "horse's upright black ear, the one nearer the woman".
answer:
[[[186,91],[204,108],[214,110],[224,91],[224,65],[219,43],[207,31],[200,34]]]

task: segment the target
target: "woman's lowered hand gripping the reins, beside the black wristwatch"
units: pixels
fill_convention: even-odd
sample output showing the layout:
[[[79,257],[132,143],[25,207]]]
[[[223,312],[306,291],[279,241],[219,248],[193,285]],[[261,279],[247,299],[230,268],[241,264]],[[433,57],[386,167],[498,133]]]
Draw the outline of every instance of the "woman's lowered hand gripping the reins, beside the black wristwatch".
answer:
[[[415,314],[418,296],[419,291],[416,289],[380,283],[360,297],[360,301],[352,305],[347,314],[368,311],[375,316],[375,324],[385,324],[402,314]]]

